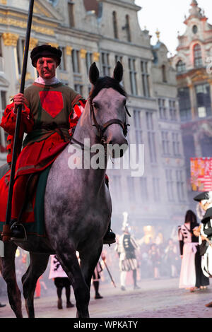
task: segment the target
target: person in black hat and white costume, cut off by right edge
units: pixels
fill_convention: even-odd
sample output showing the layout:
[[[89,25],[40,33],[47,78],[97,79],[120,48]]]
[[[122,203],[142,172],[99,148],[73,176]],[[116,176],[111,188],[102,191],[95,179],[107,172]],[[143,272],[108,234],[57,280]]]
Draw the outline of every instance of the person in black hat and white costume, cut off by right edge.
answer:
[[[205,191],[195,196],[194,201],[199,202],[197,209],[202,217],[201,227],[196,234],[199,235],[202,255],[201,268],[206,277],[212,278],[212,191]],[[212,302],[206,304],[206,307],[212,307]]]

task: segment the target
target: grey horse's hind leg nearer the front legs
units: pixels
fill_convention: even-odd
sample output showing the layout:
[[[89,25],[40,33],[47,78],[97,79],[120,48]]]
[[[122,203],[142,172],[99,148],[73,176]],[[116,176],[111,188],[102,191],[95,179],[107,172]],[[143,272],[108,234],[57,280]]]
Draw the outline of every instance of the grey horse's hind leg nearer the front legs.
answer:
[[[38,278],[45,272],[49,261],[47,254],[34,254],[30,252],[30,266],[22,277],[23,296],[25,308],[29,318],[35,318],[34,293]]]

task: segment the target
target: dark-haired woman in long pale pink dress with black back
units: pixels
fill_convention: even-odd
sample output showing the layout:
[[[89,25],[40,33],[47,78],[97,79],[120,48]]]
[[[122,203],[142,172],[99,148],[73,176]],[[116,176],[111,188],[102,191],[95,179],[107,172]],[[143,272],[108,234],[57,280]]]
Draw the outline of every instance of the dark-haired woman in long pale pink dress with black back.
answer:
[[[179,252],[182,258],[179,288],[190,288],[191,292],[194,292],[196,288],[209,285],[209,280],[201,269],[199,239],[194,235],[198,227],[195,213],[188,210],[184,225],[181,225],[178,231]]]

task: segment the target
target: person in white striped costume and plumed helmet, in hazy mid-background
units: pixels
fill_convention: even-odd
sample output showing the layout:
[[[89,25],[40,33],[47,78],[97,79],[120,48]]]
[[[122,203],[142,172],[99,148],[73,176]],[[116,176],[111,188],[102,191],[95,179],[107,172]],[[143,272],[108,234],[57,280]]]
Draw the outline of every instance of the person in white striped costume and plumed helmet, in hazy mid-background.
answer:
[[[130,234],[130,227],[127,223],[127,213],[123,213],[124,222],[123,222],[123,235],[119,237],[117,242],[117,246],[115,250],[119,255],[119,271],[120,271],[120,283],[121,290],[126,290],[126,273],[129,271],[133,272],[133,280],[134,280],[134,290],[139,289],[140,287],[137,285],[137,268],[138,263],[136,260],[136,249],[139,248],[134,237]]]

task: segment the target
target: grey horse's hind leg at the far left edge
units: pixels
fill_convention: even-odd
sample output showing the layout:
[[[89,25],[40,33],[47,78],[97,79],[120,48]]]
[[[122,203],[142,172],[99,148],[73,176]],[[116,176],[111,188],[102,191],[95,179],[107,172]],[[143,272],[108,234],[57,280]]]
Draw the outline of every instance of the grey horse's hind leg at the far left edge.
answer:
[[[6,281],[8,300],[11,309],[16,314],[17,318],[23,318],[21,310],[21,294],[16,280],[16,244],[8,242],[4,244],[4,257],[1,257],[0,269],[1,275]]]

